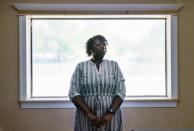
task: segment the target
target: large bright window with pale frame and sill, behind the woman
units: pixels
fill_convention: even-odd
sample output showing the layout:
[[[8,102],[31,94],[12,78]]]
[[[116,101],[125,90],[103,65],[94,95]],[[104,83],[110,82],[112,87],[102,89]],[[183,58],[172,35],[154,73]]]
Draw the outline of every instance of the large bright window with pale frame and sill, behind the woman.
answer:
[[[97,34],[109,43],[105,59],[116,60],[126,79],[124,107],[176,106],[176,15],[24,15],[19,22],[23,107],[71,107],[71,74],[88,59],[85,42]]]

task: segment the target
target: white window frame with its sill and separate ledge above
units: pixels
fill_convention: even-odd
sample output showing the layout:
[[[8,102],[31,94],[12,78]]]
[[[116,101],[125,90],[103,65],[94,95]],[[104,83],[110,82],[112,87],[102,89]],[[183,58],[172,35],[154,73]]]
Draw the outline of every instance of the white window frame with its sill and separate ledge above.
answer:
[[[168,11],[182,4],[13,4],[17,10],[79,10],[79,11]],[[103,6],[102,6],[103,5]],[[90,8],[92,6],[92,8]],[[176,107],[178,101],[177,15],[167,18],[167,92],[168,97],[130,97],[121,107]],[[31,47],[30,21],[19,15],[20,103],[22,108],[75,108],[68,98],[30,98]]]

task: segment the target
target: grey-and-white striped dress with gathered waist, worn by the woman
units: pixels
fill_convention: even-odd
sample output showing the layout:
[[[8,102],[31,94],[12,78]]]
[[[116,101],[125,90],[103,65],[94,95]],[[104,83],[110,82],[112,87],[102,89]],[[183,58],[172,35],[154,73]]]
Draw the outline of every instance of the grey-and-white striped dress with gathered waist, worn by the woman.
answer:
[[[126,94],[125,80],[115,61],[103,60],[99,71],[91,60],[80,62],[72,75],[69,97],[81,95],[86,105],[98,117],[110,108],[117,95],[122,100]],[[93,128],[90,120],[79,109],[75,113],[74,131],[122,131],[122,114],[120,108],[107,128]]]

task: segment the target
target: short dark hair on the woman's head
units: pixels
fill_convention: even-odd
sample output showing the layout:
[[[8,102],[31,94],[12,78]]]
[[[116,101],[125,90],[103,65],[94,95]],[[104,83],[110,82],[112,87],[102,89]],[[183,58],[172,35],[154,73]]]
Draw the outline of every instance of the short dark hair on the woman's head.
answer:
[[[102,35],[96,35],[91,37],[87,42],[86,42],[86,53],[88,56],[92,55],[91,49],[93,47],[95,39],[99,39],[101,42],[105,44],[105,46],[108,44],[106,38]]]

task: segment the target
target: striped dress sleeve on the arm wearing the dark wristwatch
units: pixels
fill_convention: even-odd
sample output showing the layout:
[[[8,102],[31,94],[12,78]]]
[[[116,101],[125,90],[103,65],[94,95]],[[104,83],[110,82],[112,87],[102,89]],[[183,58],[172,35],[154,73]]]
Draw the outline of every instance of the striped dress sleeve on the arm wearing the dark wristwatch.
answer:
[[[125,79],[117,62],[115,65],[115,82],[116,82],[115,96],[117,95],[122,100],[124,100],[126,95]]]

